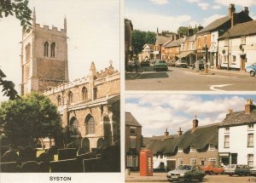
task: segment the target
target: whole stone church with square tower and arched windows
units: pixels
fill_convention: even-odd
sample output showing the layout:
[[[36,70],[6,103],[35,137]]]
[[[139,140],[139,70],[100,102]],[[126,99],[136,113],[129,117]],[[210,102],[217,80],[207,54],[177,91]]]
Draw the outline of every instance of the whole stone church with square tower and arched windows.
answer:
[[[88,76],[68,79],[67,19],[64,28],[40,26],[33,10],[32,29],[23,31],[21,42],[20,94],[41,92],[57,106],[68,137],[88,151],[120,141],[120,74],[110,63]],[[44,140],[50,146],[51,140]]]

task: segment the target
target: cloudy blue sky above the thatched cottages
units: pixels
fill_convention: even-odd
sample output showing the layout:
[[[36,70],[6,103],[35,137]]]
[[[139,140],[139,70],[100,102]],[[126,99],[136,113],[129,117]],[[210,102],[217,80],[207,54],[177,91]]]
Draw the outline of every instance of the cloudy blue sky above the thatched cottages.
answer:
[[[228,113],[244,111],[247,99],[256,95],[234,94],[126,94],[125,112],[143,126],[143,136],[177,134],[179,127],[185,132],[192,127],[192,120],[199,126],[220,123]]]

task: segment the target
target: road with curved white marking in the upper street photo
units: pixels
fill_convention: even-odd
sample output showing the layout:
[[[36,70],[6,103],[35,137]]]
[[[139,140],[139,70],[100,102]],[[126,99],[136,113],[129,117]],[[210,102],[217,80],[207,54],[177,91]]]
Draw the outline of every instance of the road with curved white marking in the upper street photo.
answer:
[[[239,71],[205,73],[177,67],[153,71],[148,66],[142,72],[125,73],[125,90],[256,91],[256,77]]]

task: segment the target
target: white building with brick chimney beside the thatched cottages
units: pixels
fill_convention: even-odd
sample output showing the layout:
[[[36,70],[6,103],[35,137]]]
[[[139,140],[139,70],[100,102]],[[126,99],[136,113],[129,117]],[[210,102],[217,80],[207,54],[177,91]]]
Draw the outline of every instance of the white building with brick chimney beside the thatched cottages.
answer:
[[[229,111],[218,129],[220,163],[256,165],[256,106],[247,100],[245,111]]]

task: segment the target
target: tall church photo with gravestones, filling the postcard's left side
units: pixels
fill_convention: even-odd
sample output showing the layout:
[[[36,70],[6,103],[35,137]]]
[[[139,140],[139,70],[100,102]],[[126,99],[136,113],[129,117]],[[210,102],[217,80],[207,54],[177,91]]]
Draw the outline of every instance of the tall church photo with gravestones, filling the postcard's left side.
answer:
[[[0,182],[120,173],[119,1],[1,1],[0,10]]]

